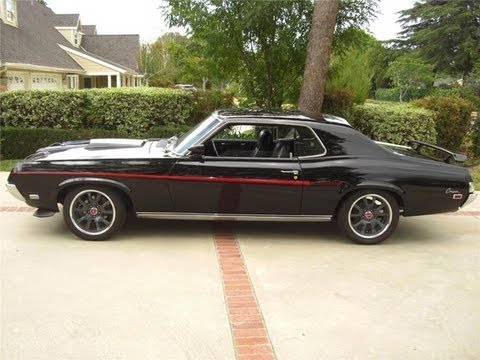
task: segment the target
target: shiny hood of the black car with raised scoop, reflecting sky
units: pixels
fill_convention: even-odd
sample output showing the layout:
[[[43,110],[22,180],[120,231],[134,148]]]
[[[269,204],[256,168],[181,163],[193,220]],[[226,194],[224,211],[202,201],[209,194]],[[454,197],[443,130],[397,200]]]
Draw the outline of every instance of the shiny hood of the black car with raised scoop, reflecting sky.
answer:
[[[166,144],[167,141],[164,139],[91,139],[65,141],[40,148],[25,160],[52,161],[163,157],[165,155]],[[152,151],[152,149],[154,149],[154,151]]]

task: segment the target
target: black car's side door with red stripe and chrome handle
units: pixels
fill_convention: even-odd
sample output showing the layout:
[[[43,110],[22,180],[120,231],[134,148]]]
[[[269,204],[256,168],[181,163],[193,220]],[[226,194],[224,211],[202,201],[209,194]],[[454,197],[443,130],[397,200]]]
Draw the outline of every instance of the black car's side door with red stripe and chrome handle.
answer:
[[[238,124],[237,124],[238,125]],[[230,151],[228,156],[208,153],[201,158],[186,156],[171,170],[176,179],[170,191],[176,212],[217,214],[298,215],[302,199],[302,174],[292,154],[272,157],[272,149],[251,149],[252,137],[271,124],[248,125],[239,136],[228,139],[213,136],[204,144],[240,140],[246,148]],[[278,128],[278,126],[276,126]],[[250,132],[247,134],[247,132]],[[278,139],[277,139],[278,140]],[[273,147],[275,144],[272,143]],[[248,147],[248,149],[247,149]],[[230,148],[232,149],[232,148]],[[218,149],[217,149],[218,150]],[[251,156],[245,156],[246,153]]]

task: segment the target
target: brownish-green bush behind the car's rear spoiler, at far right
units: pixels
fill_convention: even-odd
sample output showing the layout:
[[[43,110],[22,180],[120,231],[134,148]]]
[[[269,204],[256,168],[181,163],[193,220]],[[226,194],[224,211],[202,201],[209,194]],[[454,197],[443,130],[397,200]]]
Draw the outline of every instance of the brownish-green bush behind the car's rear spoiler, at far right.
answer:
[[[438,145],[453,151],[462,150],[474,110],[471,102],[453,96],[429,96],[415,104],[435,112]]]

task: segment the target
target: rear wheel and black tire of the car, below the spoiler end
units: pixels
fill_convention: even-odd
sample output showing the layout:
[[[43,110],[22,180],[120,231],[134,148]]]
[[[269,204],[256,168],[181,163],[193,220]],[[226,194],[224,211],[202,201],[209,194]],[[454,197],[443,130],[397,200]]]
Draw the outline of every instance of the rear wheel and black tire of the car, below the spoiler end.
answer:
[[[380,190],[357,191],[348,196],[337,211],[341,232],[361,245],[374,245],[389,238],[398,219],[397,201]]]

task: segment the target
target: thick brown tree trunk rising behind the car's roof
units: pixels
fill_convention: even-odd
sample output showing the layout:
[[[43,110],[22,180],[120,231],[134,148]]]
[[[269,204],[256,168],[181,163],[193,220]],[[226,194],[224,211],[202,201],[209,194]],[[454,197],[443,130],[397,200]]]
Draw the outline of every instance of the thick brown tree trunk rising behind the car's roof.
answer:
[[[315,0],[313,7],[303,87],[298,102],[299,110],[312,117],[320,117],[322,114],[339,2],[340,0]]]

